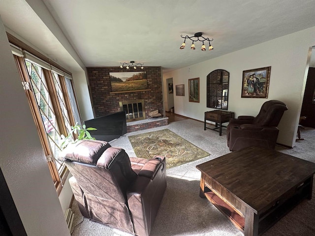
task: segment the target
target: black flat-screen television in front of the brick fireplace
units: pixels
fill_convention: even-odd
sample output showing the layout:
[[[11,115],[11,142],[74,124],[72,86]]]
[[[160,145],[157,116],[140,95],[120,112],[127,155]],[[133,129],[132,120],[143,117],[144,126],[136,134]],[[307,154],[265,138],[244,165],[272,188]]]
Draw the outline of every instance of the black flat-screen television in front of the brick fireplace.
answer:
[[[125,111],[85,120],[84,124],[97,129],[89,131],[96,140],[110,142],[127,133]]]

